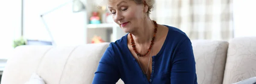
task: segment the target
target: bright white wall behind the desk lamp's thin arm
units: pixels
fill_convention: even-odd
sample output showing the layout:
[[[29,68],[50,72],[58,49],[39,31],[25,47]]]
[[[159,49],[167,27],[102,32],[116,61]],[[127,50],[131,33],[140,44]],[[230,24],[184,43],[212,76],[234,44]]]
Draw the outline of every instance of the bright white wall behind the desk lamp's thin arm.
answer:
[[[40,15],[70,1],[72,0],[24,0],[24,37],[51,41]],[[85,11],[73,13],[71,2],[45,15],[44,21],[57,46],[79,45],[86,42]]]

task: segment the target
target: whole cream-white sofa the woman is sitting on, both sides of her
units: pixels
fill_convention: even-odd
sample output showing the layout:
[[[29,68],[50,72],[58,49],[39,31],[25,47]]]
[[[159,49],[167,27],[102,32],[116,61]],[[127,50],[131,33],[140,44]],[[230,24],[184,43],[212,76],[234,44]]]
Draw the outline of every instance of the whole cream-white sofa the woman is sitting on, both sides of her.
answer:
[[[18,46],[7,61],[1,84],[24,84],[32,73],[47,84],[91,84],[108,45]],[[198,84],[232,84],[256,76],[256,37],[197,40],[192,46]]]

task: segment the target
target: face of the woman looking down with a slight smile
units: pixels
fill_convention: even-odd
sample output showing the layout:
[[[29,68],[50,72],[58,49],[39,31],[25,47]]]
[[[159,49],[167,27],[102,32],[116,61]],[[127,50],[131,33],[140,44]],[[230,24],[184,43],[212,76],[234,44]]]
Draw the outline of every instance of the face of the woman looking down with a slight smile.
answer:
[[[108,3],[109,11],[114,22],[124,30],[131,33],[143,24],[144,5],[138,5],[134,0],[112,0]]]

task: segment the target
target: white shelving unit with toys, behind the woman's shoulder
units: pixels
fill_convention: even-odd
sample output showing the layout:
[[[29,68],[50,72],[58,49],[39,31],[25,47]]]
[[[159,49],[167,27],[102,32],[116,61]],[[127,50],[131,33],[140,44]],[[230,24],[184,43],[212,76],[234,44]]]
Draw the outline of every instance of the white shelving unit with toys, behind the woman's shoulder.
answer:
[[[106,42],[114,42],[122,36],[126,35],[125,32],[117,25],[116,23],[102,23],[102,24],[89,24],[90,17],[93,11],[99,10],[96,8],[94,3],[90,0],[86,1],[86,28],[85,28],[85,37],[86,42],[91,43],[91,40],[94,36],[100,36]]]

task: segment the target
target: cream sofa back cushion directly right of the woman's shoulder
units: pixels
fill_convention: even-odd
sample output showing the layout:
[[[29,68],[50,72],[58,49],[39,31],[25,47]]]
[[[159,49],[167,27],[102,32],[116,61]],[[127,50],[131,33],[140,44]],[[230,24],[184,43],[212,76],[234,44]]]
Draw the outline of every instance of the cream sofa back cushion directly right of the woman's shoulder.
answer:
[[[198,84],[222,84],[228,42],[192,41]]]

